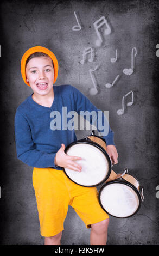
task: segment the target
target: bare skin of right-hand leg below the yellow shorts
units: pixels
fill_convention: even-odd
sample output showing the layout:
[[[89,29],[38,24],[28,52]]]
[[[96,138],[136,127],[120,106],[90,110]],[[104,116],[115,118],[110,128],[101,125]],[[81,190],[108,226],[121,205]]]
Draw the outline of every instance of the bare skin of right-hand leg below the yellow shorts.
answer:
[[[91,224],[90,245],[106,245],[109,218]]]

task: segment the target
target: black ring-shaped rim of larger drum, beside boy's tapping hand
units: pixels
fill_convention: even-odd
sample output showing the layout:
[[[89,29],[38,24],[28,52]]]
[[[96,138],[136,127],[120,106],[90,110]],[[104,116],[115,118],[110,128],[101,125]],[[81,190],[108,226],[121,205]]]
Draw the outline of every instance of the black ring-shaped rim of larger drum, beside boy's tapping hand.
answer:
[[[80,186],[82,186],[82,187],[96,187],[96,186],[99,186],[99,185],[103,184],[103,183],[109,178],[109,176],[110,176],[110,174],[111,174],[111,160],[110,160],[110,157],[109,157],[109,155],[107,154],[107,152],[105,151],[105,149],[104,149],[103,147],[101,147],[98,143],[91,141],[91,139],[80,139],[79,141],[75,141],[75,142],[70,143],[70,144],[65,148],[65,153],[67,152],[67,150],[68,150],[71,146],[73,146],[73,145],[75,145],[75,144],[80,144],[80,143],[93,144],[96,148],[100,149],[100,150],[104,153],[104,155],[106,156],[106,159],[107,159],[107,161],[108,161],[108,164],[109,164],[109,170],[108,170],[108,172],[107,172],[107,175],[106,175],[105,179],[103,179],[102,181],[100,181],[100,182],[99,182],[98,184],[96,184],[96,185],[85,186],[85,185],[78,184],[77,182],[75,182],[74,180],[72,180],[72,179],[67,175],[66,170],[65,170],[64,167],[63,167],[63,171],[65,172],[66,176],[67,176],[70,180],[72,180],[75,184],[77,184],[77,185],[80,185]]]

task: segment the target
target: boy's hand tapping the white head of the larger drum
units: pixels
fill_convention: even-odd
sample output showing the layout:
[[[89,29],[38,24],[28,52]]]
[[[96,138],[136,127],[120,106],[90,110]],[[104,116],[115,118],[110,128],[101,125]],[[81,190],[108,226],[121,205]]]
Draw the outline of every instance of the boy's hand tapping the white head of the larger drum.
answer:
[[[73,160],[81,160],[78,156],[68,156],[65,153],[65,145],[61,144],[61,148],[58,150],[55,156],[55,164],[60,167],[76,170],[81,172],[81,166],[75,163]]]

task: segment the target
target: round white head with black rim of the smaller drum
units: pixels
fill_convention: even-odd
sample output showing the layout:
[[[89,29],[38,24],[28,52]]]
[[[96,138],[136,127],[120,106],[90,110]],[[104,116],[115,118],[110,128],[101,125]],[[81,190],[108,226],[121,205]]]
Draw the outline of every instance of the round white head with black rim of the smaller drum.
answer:
[[[127,218],[139,210],[141,198],[137,189],[127,182],[111,181],[99,191],[99,203],[108,214]]]

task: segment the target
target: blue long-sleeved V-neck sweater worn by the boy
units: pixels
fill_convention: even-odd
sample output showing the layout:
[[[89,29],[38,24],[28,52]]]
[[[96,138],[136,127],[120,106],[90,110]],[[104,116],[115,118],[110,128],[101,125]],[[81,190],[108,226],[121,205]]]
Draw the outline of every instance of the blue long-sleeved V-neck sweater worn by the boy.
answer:
[[[53,86],[53,89],[54,101],[51,107],[44,107],[36,103],[32,94],[18,106],[15,114],[16,150],[18,159],[29,166],[52,167],[62,170],[62,167],[56,166],[54,163],[56,152],[61,148],[61,143],[67,146],[77,141],[77,137],[74,129],[64,127],[62,130],[58,128],[58,124],[54,123],[53,125],[52,121],[55,121],[53,117],[56,117],[53,115],[54,111],[61,114],[62,127],[62,107],[67,107],[67,113],[75,111],[78,114],[80,111],[98,112],[100,109],[97,109],[84,94],[73,86]],[[67,122],[70,119],[67,117]],[[92,120],[90,123],[92,124]],[[55,125],[59,130],[53,129]],[[110,126],[108,135],[103,138],[107,145],[115,145]]]

